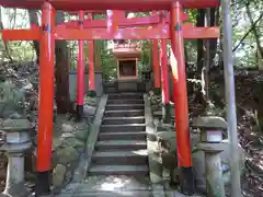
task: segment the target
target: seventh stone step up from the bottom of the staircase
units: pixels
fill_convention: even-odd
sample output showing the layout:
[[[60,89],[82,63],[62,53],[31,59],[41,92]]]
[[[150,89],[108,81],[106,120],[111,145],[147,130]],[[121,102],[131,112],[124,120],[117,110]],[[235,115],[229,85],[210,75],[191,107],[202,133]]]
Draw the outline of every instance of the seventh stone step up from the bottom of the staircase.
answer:
[[[145,116],[145,109],[132,109],[132,111],[105,111],[104,117],[133,117]]]

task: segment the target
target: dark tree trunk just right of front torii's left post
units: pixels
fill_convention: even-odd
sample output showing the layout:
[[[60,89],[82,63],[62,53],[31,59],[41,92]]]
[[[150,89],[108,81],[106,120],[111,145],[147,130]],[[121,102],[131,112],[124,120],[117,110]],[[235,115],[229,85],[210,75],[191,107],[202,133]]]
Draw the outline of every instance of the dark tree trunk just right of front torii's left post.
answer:
[[[62,11],[57,11],[56,23],[64,22]],[[73,113],[69,95],[69,54],[66,40],[56,40],[56,104],[57,113]]]

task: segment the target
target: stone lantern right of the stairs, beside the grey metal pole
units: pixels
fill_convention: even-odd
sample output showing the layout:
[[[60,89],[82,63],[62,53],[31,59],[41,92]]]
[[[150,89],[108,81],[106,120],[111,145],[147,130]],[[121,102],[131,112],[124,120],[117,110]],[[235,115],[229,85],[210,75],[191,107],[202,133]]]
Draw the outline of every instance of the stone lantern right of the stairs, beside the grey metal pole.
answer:
[[[227,121],[217,116],[204,116],[193,121],[193,127],[201,130],[201,142],[197,149],[205,153],[206,190],[208,197],[225,197],[219,153],[225,150],[222,132],[227,129]]]

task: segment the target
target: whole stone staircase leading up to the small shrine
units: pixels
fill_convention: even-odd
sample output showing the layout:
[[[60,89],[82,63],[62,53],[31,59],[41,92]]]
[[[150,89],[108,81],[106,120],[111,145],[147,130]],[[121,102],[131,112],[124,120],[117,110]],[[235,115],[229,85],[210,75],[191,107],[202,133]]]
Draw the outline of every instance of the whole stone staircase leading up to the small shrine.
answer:
[[[145,105],[141,93],[108,94],[88,176],[148,177]]]

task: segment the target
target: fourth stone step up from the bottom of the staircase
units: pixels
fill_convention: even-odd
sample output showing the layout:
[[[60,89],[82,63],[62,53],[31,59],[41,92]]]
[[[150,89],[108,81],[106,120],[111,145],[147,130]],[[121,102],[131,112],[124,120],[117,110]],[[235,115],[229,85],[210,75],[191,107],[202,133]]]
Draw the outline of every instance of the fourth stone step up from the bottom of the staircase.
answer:
[[[101,132],[100,140],[146,140],[146,131]]]

